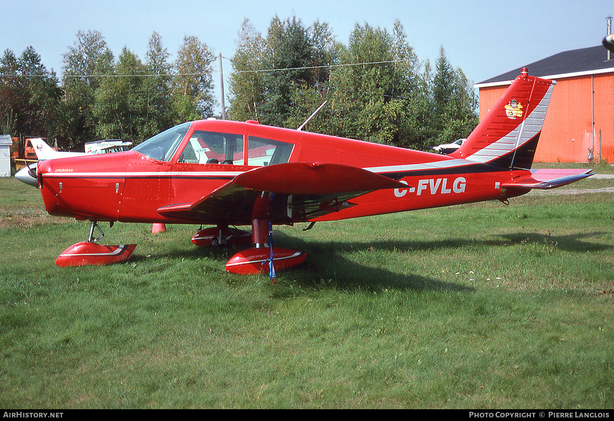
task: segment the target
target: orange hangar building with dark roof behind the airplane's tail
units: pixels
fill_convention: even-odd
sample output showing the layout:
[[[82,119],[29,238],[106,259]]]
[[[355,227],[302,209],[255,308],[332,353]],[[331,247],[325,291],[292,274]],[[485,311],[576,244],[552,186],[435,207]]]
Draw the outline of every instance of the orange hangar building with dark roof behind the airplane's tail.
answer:
[[[535,161],[614,163],[614,54],[599,45],[522,67],[531,75],[557,82]],[[480,120],[520,71],[475,85],[480,92]]]

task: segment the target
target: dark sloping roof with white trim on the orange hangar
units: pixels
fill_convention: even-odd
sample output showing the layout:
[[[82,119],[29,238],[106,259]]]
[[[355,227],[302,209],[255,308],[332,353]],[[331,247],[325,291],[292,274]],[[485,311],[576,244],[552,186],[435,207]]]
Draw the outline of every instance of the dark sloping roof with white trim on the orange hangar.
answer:
[[[530,75],[546,79],[614,72],[614,54],[611,60],[607,60],[607,50],[603,45],[566,51],[476,83],[475,86],[506,85],[516,79],[522,68],[528,68]]]

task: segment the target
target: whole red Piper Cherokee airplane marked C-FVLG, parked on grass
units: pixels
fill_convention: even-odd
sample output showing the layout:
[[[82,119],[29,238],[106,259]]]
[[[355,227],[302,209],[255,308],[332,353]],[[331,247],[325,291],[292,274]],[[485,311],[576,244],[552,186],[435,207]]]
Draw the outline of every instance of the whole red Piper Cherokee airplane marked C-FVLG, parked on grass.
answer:
[[[584,179],[591,170],[530,169],[555,83],[523,69],[450,155],[252,121],[201,120],[128,152],[43,161],[37,181],[47,212],[91,222],[88,240],[66,249],[56,264],[127,260],[136,245],[98,244],[101,222],[200,224],[212,226],[193,236],[196,245],[245,244],[228,260],[228,271],[273,277],[275,269],[306,257],[273,247],[274,225],[303,222],[311,228],[315,222],[461,203],[507,203],[533,188]]]

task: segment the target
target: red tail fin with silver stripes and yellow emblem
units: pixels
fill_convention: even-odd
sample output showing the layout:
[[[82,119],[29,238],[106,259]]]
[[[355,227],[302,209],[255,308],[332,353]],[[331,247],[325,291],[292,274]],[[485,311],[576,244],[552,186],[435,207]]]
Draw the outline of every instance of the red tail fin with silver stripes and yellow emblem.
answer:
[[[523,69],[486,117],[451,156],[502,168],[530,169],[554,80]]]

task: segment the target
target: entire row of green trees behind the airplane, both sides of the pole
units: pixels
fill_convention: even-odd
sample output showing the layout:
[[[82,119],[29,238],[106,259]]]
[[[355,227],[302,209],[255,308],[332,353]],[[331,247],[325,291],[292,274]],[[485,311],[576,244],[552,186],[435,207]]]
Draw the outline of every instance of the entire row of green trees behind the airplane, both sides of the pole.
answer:
[[[144,62],[126,47],[114,58],[104,37],[79,31],[64,55],[63,86],[32,47],[0,58],[0,129],[57,137],[60,146],[121,138],[138,143],[180,122],[211,117],[208,46],[185,37],[176,60],[153,33]],[[327,23],[274,17],[266,36],[249,20],[239,31],[230,73],[233,120],[297,128],[415,149],[466,137],[478,122],[477,96],[441,48],[432,71],[392,33],[356,25],[347,45]]]

